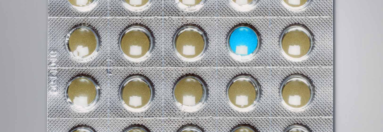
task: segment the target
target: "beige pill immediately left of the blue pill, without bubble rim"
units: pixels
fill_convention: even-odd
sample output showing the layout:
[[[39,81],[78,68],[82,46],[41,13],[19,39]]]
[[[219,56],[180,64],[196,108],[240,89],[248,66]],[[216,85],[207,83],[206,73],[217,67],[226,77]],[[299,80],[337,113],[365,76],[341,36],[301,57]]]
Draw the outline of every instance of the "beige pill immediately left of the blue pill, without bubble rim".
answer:
[[[175,39],[177,52],[185,58],[196,58],[205,48],[202,32],[196,27],[187,27],[178,32]]]

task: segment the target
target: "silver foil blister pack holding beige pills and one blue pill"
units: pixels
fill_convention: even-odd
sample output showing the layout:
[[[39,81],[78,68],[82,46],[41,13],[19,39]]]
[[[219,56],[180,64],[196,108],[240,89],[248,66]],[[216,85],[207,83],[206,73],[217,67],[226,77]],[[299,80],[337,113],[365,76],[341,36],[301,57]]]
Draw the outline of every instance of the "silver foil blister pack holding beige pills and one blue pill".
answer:
[[[47,132],[332,132],[332,0],[48,0]]]

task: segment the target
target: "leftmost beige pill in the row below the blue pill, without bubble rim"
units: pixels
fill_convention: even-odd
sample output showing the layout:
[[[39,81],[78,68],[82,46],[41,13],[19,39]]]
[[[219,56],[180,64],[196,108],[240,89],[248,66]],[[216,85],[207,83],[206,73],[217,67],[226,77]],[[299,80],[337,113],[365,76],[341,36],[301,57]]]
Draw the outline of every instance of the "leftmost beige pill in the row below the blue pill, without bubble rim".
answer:
[[[96,98],[97,89],[89,77],[76,77],[67,88],[67,96],[76,106],[90,105]]]

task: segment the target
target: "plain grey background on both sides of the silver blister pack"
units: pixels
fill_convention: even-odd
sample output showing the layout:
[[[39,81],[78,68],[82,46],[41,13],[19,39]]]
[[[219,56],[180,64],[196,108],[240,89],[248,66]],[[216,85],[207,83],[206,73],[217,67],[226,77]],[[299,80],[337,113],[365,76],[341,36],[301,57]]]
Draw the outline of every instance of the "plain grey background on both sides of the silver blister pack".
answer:
[[[382,0],[334,0],[336,132],[383,131]],[[0,129],[46,132],[47,1],[0,1]]]

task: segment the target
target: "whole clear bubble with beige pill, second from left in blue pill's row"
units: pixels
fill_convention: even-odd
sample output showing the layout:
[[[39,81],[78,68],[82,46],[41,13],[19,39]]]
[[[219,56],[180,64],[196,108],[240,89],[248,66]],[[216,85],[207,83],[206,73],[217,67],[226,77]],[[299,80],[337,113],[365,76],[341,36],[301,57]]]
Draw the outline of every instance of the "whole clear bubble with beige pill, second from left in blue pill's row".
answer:
[[[131,61],[144,61],[154,47],[154,37],[142,25],[129,26],[119,38],[119,47],[126,58]]]

